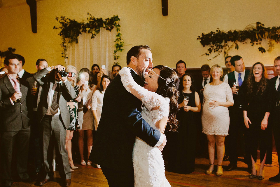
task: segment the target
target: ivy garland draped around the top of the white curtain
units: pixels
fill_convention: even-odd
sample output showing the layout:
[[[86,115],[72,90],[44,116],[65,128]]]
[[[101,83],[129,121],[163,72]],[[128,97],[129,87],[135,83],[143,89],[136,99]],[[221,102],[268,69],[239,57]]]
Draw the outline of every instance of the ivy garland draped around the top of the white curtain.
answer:
[[[118,64],[118,52],[122,52],[124,49],[123,47],[123,40],[122,40],[122,34],[120,33],[120,24],[119,20],[120,18],[118,15],[114,15],[111,18],[106,18],[103,20],[102,18],[95,18],[90,13],[88,13],[87,22],[78,22],[76,20],[71,20],[70,18],[65,18],[65,16],[56,17],[55,19],[60,23],[59,27],[54,26],[54,29],[60,29],[60,32],[58,35],[62,37],[62,57],[67,58],[66,51],[67,51],[67,45],[72,44],[75,42],[78,43],[78,36],[82,34],[82,32],[90,33],[91,38],[93,39],[96,34],[100,32],[100,28],[103,27],[108,31],[111,31],[114,27],[116,27],[117,35],[115,39],[115,50],[113,53],[114,56],[114,64]]]

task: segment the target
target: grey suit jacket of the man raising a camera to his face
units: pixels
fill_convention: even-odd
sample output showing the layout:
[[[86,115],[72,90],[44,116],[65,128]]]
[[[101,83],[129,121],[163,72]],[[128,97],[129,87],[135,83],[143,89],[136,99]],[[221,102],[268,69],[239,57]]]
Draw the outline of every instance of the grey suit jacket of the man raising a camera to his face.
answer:
[[[43,117],[46,115],[48,110],[48,92],[53,88],[54,82],[51,81],[53,77],[45,76],[49,71],[45,68],[36,72],[33,77],[34,79],[42,86],[42,92],[40,97],[40,102],[38,104],[38,121],[41,122]],[[44,77],[45,76],[45,77]],[[60,90],[58,92],[58,104],[60,109],[60,115],[62,117],[62,124],[64,125],[64,129],[69,128],[70,124],[70,113],[67,107],[67,101],[74,100],[76,98],[76,92],[72,87],[71,83],[67,80],[65,83],[63,82],[60,86]]]

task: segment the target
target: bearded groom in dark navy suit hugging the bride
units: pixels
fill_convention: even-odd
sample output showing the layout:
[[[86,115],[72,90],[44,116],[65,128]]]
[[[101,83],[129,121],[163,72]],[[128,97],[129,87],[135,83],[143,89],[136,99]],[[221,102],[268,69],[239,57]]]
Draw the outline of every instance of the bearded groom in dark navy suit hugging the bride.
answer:
[[[150,47],[134,46],[128,51],[126,59],[134,81],[144,86],[143,75],[153,68]],[[100,165],[110,187],[134,186],[132,151],[135,136],[152,147],[158,146],[160,150],[166,144],[165,135],[142,119],[141,106],[142,102],[126,91],[120,75],[106,88],[90,157]]]

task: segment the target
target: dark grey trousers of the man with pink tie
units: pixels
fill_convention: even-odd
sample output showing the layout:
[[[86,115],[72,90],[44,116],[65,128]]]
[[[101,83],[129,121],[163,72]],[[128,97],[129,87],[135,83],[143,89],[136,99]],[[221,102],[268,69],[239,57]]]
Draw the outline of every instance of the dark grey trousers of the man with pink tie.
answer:
[[[10,186],[12,179],[12,154],[17,148],[17,173],[21,179],[28,179],[27,160],[29,146],[30,127],[19,131],[1,133],[1,185]]]

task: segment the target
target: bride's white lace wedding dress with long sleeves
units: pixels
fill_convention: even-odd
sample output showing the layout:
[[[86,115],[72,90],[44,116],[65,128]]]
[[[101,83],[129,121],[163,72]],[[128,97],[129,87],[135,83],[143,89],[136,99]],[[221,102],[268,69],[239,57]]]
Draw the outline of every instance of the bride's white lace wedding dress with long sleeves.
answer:
[[[138,85],[129,71],[130,69],[127,67],[124,67],[119,71],[122,84],[127,91],[143,102],[143,119],[148,122],[151,127],[160,131],[160,129],[155,126],[155,123],[163,117],[169,116],[169,98],[164,98],[161,95],[148,91]],[[170,186],[165,178],[164,162],[161,151],[157,147],[149,146],[138,137],[136,137],[134,143],[133,166],[135,187]]]

